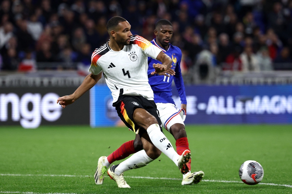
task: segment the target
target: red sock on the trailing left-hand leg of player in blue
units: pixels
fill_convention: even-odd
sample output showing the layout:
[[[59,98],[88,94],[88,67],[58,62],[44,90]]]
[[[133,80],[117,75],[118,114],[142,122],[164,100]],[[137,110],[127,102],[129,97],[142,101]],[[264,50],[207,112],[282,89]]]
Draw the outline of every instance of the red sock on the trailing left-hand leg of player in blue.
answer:
[[[124,159],[128,157],[130,154],[134,154],[137,151],[134,149],[134,140],[127,141],[126,143],[123,143],[121,147],[119,147],[117,150],[109,154],[107,156],[107,161],[109,161],[110,164],[112,164],[114,161]]]

